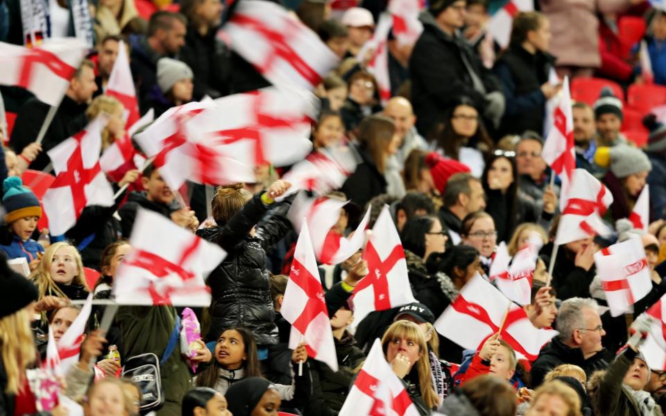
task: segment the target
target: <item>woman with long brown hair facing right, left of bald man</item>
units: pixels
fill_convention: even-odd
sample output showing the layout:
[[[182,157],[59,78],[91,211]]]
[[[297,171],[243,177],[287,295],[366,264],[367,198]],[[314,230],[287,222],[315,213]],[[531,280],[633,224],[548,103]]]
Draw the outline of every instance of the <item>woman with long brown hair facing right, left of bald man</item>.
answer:
[[[359,207],[386,192],[386,159],[398,150],[395,125],[387,117],[372,115],[359,125],[361,163],[342,185],[342,192]]]

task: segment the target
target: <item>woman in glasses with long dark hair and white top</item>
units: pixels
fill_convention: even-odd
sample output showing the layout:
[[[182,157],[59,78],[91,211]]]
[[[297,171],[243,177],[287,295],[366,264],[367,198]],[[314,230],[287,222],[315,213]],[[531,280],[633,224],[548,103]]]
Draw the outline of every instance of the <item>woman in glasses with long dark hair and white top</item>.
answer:
[[[471,99],[460,97],[447,108],[443,119],[443,125],[434,135],[438,151],[470,167],[478,178],[484,172],[484,160],[493,149],[479,111]]]

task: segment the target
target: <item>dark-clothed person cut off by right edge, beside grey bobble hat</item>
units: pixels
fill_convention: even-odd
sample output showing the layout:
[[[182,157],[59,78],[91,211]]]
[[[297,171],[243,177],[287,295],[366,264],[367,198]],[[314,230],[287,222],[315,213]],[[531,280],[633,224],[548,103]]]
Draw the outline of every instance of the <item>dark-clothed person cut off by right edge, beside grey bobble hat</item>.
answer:
[[[654,114],[647,115],[643,125],[650,131],[645,146],[645,153],[652,165],[647,176],[652,206],[650,217],[659,219],[666,213],[666,126],[658,122]]]

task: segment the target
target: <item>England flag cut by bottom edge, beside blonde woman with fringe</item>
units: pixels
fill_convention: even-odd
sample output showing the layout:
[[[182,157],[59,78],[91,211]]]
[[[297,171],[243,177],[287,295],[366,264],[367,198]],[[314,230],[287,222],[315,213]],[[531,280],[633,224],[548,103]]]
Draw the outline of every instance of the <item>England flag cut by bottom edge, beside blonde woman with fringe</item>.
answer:
[[[375,339],[339,413],[339,416],[357,415],[419,415],[402,381],[386,362],[378,339]]]

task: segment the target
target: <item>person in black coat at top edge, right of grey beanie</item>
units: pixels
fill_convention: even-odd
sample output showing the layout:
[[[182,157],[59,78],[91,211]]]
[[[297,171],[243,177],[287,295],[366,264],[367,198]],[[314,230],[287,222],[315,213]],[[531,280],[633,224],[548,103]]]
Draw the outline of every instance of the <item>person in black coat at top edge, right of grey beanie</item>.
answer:
[[[229,93],[231,55],[227,45],[217,37],[222,9],[220,0],[180,1],[180,13],[187,17],[187,35],[178,58],[194,73],[196,100],[205,95],[216,99]]]

